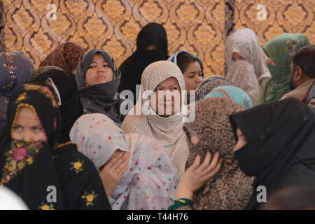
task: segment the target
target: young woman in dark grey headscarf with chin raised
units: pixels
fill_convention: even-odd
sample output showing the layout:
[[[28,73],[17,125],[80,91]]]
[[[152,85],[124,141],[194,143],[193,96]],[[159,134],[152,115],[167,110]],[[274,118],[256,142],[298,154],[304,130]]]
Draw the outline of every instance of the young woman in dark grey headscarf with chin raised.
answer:
[[[104,113],[121,125],[125,115],[120,105],[125,99],[117,92],[120,71],[108,52],[94,49],[85,53],[78,64],[76,82],[85,113]]]

